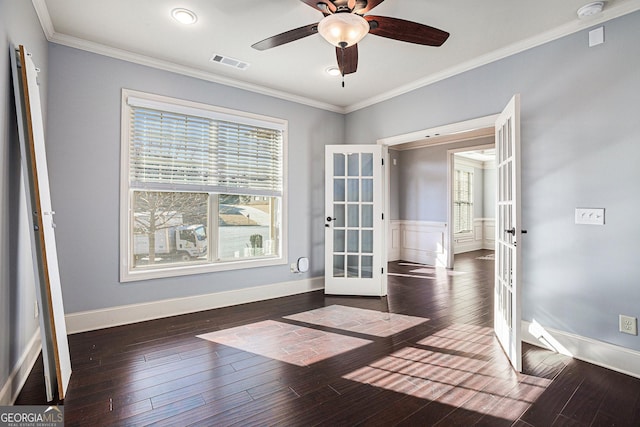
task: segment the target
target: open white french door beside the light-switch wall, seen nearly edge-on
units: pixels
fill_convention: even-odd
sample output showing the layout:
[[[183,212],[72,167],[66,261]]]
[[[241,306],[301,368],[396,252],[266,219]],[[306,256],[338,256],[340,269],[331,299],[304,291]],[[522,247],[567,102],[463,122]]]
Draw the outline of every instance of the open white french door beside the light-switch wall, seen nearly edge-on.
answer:
[[[494,329],[514,369],[521,372],[520,95],[496,120],[496,169]]]

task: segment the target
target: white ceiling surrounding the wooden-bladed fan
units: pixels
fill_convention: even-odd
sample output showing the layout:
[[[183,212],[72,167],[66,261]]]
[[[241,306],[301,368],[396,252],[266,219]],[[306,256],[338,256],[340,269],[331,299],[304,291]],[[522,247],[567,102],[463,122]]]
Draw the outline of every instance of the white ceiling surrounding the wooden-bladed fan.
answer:
[[[358,71],[330,77],[335,48],[315,34],[266,51],[251,45],[318,22],[299,0],[32,0],[55,43],[350,112],[605,20],[640,10],[640,0],[609,0],[578,20],[590,0],[386,0],[369,14],[416,21],[451,33],[442,47],[367,35]],[[172,9],[198,15],[191,26]],[[587,41],[585,40],[585,43]],[[245,71],[210,62],[214,54],[250,64]]]

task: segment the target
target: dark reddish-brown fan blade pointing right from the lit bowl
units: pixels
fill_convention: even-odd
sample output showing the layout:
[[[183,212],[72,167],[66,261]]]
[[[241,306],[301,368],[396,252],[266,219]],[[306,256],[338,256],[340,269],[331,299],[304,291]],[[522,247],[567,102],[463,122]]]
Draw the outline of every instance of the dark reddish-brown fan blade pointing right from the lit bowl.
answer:
[[[364,19],[369,21],[369,32],[380,37],[426,46],[441,46],[449,38],[446,31],[404,19],[373,15]]]

